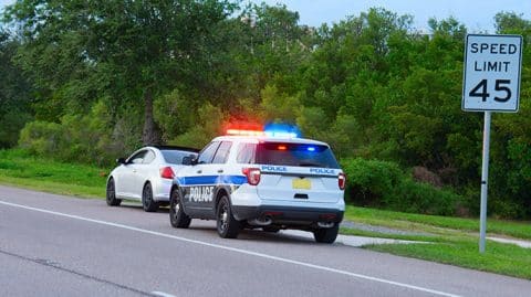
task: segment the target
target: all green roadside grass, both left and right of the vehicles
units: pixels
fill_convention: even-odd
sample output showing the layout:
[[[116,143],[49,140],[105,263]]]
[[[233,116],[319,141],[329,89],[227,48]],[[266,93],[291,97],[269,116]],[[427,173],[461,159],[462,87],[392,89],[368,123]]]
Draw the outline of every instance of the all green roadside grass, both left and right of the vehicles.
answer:
[[[0,183],[58,194],[104,198],[108,169],[35,158],[23,150],[0,150]],[[402,213],[348,205],[345,220],[427,235],[356,229],[341,233],[429,244],[384,244],[365,248],[531,279],[531,250],[488,241],[478,252],[478,219]],[[531,240],[531,223],[488,220],[488,235]]]

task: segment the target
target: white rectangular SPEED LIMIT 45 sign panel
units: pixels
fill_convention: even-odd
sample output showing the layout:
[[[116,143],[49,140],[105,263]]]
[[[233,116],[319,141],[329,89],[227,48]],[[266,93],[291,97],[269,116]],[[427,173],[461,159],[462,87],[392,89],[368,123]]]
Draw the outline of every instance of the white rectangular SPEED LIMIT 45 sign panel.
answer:
[[[465,112],[518,112],[522,36],[467,35],[462,103]]]

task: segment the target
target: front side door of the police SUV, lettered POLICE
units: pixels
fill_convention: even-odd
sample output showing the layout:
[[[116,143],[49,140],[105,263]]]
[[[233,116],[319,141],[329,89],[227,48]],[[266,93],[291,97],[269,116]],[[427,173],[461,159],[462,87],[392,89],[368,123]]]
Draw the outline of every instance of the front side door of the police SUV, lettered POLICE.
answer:
[[[197,165],[187,169],[181,187],[185,189],[185,204],[196,215],[210,215],[212,191],[216,176],[212,172],[212,160],[220,141],[212,141],[202,149],[197,159]]]

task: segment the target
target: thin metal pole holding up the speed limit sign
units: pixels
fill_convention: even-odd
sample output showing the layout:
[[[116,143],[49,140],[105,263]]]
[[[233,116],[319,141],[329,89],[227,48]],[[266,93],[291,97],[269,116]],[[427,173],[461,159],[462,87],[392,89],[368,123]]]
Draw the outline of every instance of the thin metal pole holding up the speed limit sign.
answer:
[[[485,112],[483,160],[481,168],[481,210],[479,215],[479,253],[481,254],[485,253],[485,236],[487,233],[487,190],[489,181],[490,118],[491,112]]]

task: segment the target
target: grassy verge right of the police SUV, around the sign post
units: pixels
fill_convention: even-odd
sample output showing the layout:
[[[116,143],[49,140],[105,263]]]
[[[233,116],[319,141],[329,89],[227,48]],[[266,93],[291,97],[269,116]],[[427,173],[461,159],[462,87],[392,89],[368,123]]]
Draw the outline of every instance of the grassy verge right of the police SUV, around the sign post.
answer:
[[[367,250],[531,279],[531,248],[488,240],[486,253],[479,254],[479,220],[476,218],[348,206],[345,220],[373,226],[376,231],[342,227],[343,234],[419,242],[364,246]],[[395,232],[378,231],[379,226]],[[489,219],[487,226],[488,236],[531,240],[530,222]]]

